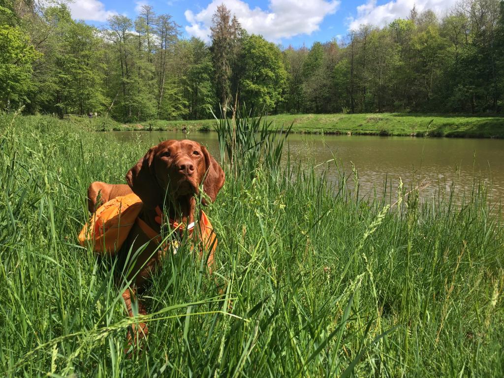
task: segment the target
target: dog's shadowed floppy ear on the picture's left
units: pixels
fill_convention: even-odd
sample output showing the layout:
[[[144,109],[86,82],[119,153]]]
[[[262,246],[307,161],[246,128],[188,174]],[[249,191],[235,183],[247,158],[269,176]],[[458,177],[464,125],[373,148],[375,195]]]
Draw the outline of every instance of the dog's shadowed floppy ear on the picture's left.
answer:
[[[140,197],[144,206],[149,209],[154,209],[162,203],[161,188],[156,181],[154,172],[154,155],[156,151],[157,146],[151,147],[126,175],[126,181],[133,193]]]

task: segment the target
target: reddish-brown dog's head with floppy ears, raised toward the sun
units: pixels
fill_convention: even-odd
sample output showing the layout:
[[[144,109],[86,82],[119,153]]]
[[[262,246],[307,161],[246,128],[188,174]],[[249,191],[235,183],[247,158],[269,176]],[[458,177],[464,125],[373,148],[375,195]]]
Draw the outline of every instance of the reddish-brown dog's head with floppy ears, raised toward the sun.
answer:
[[[199,143],[170,140],[151,147],[126,180],[146,207],[155,208],[165,199],[199,195],[202,184],[206,197],[215,201],[224,184],[224,171]],[[203,203],[207,205],[205,198]]]

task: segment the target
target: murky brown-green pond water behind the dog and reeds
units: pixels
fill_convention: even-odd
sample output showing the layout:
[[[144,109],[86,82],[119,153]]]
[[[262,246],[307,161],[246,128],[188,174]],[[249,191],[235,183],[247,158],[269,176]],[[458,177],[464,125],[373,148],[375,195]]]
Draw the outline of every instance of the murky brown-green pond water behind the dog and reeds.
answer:
[[[107,134],[125,142],[140,138],[152,145],[161,140],[185,139],[181,132]],[[192,132],[188,139],[202,143],[219,156],[216,133]],[[426,184],[422,197],[452,185],[462,193],[471,187],[473,177],[479,177],[487,185],[492,202],[504,199],[504,140],[292,134],[288,145],[291,158],[315,164],[336,158],[347,175],[351,174],[353,162],[362,196],[371,195],[374,189],[381,193],[386,180],[389,189],[392,182],[395,192],[399,178],[405,186]],[[328,176],[332,180],[339,177],[334,163],[329,166]],[[351,180],[349,183],[353,186]]]

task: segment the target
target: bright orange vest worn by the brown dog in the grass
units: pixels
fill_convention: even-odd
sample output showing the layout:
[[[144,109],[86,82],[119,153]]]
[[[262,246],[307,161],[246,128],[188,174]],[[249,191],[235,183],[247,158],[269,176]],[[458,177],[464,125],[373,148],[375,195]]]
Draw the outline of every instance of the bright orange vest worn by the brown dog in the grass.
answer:
[[[160,235],[149,227],[138,215],[142,210],[142,200],[134,193],[127,196],[116,197],[101,205],[91,216],[89,222],[84,225],[79,233],[79,242],[82,246],[86,242],[94,241],[94,250],[100,254],[114,255],[120,249],[124,241],[137,223],[142,231],[158,244],[161,242]],[[156,209],[158,217],[156,221],[161,223],[162,214],[159,208]],[[204,247],[207,250],[214,250],[217,246],[212,224],[207,215],[202,211],[200,222],[203,224],[201,230]],[[173,230],[183,230],[185,225],[178,224],[170,220]],[[188,227],[187,231],[192,233],[194,225]]]

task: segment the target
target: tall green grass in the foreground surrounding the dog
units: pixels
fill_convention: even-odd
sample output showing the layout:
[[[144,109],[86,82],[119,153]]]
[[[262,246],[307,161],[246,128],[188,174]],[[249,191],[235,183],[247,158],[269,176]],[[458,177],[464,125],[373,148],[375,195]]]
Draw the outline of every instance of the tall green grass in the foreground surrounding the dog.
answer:
[[[362,202],[309,167],[228,171],[206,210],[226,301],[179,250],[144,295],[147,348],[128,359],[121,296],[76,238],[87,185],[124,182],[150,146],[0,117],[6,375],[504,375],[504,229],[477,182],[426,204],[406,189]]]

